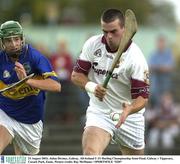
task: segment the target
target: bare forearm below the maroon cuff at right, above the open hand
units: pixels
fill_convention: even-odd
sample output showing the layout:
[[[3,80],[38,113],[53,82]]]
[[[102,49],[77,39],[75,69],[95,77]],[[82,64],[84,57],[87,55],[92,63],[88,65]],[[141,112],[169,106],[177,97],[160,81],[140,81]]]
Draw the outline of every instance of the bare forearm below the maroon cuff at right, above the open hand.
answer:
[[[143,98],[141,96],[134,99],[134,101],[130,105],[130,114],[137,113],[141,109],[143,109],[147,104],[148,99]]]

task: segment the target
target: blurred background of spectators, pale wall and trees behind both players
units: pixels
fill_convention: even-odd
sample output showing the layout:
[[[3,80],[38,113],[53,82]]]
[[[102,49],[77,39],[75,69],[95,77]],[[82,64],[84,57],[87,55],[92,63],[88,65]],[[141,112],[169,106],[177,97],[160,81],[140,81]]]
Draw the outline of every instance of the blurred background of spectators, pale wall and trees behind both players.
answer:
[[[40,154],[80,155],[87,94],[70,82],[83,43],[100,34],[100,16],[108,8],[132,9],[138,32],[134,41],[150,69],[146,154],[180,153],[180,8],[177,0],[0,0],[0,23],[17,20],[26,42],[52,63],[61,93],[47,93]],[[5,154],[12,154],[8,147]],[[104,154],[117,155],[110,145]]]

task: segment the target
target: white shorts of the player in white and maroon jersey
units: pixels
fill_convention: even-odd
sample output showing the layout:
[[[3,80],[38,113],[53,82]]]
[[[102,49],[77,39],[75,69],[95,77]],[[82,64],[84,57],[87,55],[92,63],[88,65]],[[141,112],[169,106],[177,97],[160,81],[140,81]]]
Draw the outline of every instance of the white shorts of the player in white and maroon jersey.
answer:
[[[130,115],[120,128],[116,128],[117,122],[110,119],[109,114],[95,112],[89,107],[86,112],[86,125],[95,126],[104,129],[112,136],[112,143],[125,146],[135,150],[141,150],[145,147],[144,131],[145,122],[143,114]]]

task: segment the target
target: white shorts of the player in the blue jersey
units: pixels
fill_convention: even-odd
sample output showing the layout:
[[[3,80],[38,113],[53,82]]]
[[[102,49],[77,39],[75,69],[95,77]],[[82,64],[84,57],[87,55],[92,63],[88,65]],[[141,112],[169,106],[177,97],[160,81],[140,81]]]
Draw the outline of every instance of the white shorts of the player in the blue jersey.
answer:
[[[38,154],[42,138],[43,123],[24,124],[9,117],[0,109],[0,125],[4,126],[13,137],[13,144],[25,154]]]

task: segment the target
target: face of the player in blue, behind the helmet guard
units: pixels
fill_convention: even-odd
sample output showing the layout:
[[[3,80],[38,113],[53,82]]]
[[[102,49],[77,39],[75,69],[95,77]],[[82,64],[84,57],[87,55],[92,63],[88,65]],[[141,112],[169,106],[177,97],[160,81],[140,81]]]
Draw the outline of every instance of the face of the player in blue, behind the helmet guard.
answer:
[[[8,54],[17,53],[22,48],[22,38],[20,36],[4,38],[3,46]]]

